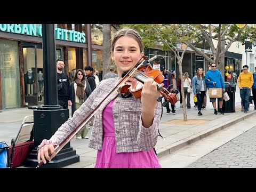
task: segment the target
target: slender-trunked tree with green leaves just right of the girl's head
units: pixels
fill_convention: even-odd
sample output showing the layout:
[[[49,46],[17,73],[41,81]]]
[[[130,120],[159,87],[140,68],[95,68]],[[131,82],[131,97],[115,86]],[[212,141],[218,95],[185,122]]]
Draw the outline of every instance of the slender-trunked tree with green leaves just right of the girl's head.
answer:
[[[143,44],[146,47],[155,47],[158,44],[163,45],[163,50],[172,51],[177,58],[179,73],[181,78],[181,95],[183,103],[183,120],[187,121],[185,97],[183,90],[182,60],[187,50],[186,44],[193,43],[197,36],[197,30],[186,24],[130,24],[121,27],[130,27],[139,31]],[[186,44],[183,44],[186,42]],[[183,44],[183,50],[181,45]]]

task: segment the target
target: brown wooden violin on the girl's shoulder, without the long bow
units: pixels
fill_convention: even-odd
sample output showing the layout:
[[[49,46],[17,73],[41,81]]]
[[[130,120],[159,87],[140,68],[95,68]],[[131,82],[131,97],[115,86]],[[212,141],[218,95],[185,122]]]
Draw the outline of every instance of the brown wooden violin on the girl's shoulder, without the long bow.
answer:
[[[144,82],[148,78],[153,78],[157,83],[157,90],[163,95],[161,98],[158,98],[157,101],[162,101],[164,97],[167,101],[171,102],[174,105],[177,102],[176,93],[170,93],[170,90],[165,89],[165,87],[161,86],[160,83],[164,81],[164,76],[161,71],[158,69],[153,69],[150,65],[150,61],[156,59],[157,56],[146,61],[146,56],[142,58],[145,59],[136,69],[131,69],[130,77],[127,78],[127,81],[123,83],[123,85],[119,89],[119,94],[122,95],[123,98],[128,98],[133,95],[135,98],[141,98],[141,92],[144,85]],[[136,66],[135,66],[136,67]],[[122,77],[124,78],[127,73],[124,73]],[[167,105],[167,103],[165,103]]]

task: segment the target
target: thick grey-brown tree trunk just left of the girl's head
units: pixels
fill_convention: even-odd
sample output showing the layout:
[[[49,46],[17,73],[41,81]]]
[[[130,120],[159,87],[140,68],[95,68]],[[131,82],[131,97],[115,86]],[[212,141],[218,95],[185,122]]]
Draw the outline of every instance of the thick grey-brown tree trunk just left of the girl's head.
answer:
[[[111,47],[110,47],[110,24],[103,24],[102,28],[103,42],[102,42],[102,66],[103,74],[102,78],[109,71],[110,57],[111,57]]]

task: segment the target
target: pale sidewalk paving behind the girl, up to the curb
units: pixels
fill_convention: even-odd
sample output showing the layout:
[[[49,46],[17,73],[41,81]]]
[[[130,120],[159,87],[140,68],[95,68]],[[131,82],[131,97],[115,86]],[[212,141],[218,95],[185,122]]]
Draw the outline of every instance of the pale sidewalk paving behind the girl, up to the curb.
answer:
[[[238,90],[238,89],[236,89]],[[202,116],[197,115],[197,109],[191,107],[187,110],[188,121],[183,121],[183,109],[179,108],[179,101],[176,103],[176,115],[166,114],[166,109],[163,108],[163,116],[159,126],[159,132],[162,137],[158,137],[155,147],[159,158],[171,154],[174,151],[186,147],[195,141],[199,141],[215,132],[225,129],[243,119],[256,115],[253,105],[247,114],[241,111],[241,98],[239,90],[235,93],[236,112],[225,113],[225,115],[213,115],[214,110],[212,104],[207,98],[207,106],[202,110]],[[193,95],[190,97],[191,106],[194,106]],[[32,115],[30,109],[12,109],[3,110],[0,113],[0,141],[11,142],[11,138],[15,138],[23,117]],[[15,127],[12,127],[15,126]],[[89,130],[90,135],[90,130]],[[76,150],[80,156],[80,162],[71,164],[68,167],[94,167],[97,150],[87,147],[88,139],[75,139],[70,141],[71,147]]]

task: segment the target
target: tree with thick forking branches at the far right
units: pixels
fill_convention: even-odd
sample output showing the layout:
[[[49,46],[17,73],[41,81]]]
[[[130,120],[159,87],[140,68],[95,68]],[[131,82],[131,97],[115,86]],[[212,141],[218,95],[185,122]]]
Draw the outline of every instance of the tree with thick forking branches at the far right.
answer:
[[[220,71],[222,77],[224,77],[225,71],[225,53],[228,51],[231,44],[234,42],[241,42],[245,44],[248,39],[253,41],[256,39],[256,29],[250,25],[240,24],[208,24],[208,25],[195,25],[191,24],[195,29],[197,29],[197,38],[194,42],[183,42],[186,43],[191,49],[193,49],[197,54],[202,55],[205,60],[210,63],[216,63],[217,67],[220,65]],[[217,41],[217,46],[214,46],[214,40]],[[213,55],[211,59],[208,55],[204,53],[204,50],[197,49],[196,45],[202,41],[207,41],[210,46],[210,50]],[[225,48],[225,42],[228,42],[228,45]]]

